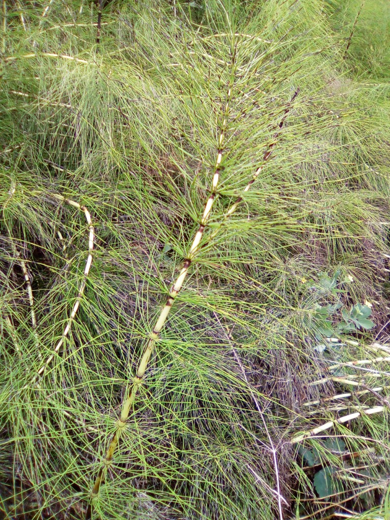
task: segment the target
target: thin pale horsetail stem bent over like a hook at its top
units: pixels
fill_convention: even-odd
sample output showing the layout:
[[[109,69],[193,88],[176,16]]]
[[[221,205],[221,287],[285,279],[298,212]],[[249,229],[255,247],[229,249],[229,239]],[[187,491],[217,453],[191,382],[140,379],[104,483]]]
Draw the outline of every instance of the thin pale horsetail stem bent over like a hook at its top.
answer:
[[[81,298],[83,297],[83,294],[84,294],[85,286],[87,283],[87,276],[89,274],[89,269],[92,264],[92,252],[94,249],[94,241],[95,241],[95,228],[94,228],[94,225],[92,224],[92,220],[90,218],[89,211],[87,210],[87,208],[85,206],[82,206],[78,202],[74,202],[73,200],[67,199],[67,198],[63,197],[62,195],[55,193],[52,196],[61,202],[65,202],[66,204],[76,207],[77,210],[80,210],[84,213],[87,224],[88,224],[88,230],[89,230],[89,232],[88,232],[88,257],[87,257],[87,262],[85,264],[84,276],[83,276],[83,280],[80,284],[79,293],[77,294],[76,301],[74,302],[71,314],[68,319],[67,326],[65,327],[65,329],[62,333],[61,339],[56,344],[56,346],[53,350],[53,353],[50,354],[50,356],[46,359],[46,361],[43,363],[41,368],[37,371],[37,373],[31,379],[30,383],[25,385],[23,387],[23,389],[29,388],[30,385],[33,385],[36,382],[36,380],[40,376],[42,376],[42,374],[45,372],[45,370],[47,369],[47,367],[49,366],[51,361],[53,361],[55,355],[58,353],[64,340],[66,339],[67,335],[69,334],[69,331],[72,326],[72,322],[76,316],[77,309],[79,309]]]

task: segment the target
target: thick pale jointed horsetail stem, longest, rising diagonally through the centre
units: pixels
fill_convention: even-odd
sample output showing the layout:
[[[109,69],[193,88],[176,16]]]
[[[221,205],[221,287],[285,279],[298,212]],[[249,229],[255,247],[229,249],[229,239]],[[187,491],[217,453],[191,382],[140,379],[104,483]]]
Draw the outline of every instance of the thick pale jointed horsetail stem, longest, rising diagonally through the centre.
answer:
[[[233,59],[234,61],[234,59]],[[165,321],[168,317],[168,314],[170,313],[171,307],[175,301],[175,298],[180,291],[186,277],[188,274],[188,269],[192,263],[192,260],[194,256],[197,254],[197,252],[200,249],[200,242],[203,237],[203,233],[205,230],[205,227],[207,225],[207,220],[209,220],[209,217],[211,215],[212,207],[214,204],[214,201],[216,199],[217,193],[216,189],[219,182],[219,175],[220,175],[220,169],[219,165],[222,161],[222,154],[224,150],[224,139],[225,139],[225,132],[226,132],[226,126],[227,126],[227,119],[229,114],[229,102],[231,98],[231,87],[232,87],[233,80],[231,80],[227,96],[226,96],[226,104],[225,104],[225,110],[223,113],[223,121],[222,125],[220,127],[220,133],[218,137],[218,153],[217,153],[217,159],[215,161],[214,166],[214,174],[213,174],[213,180],[212,180],[212,187],[210,190],[210,196],[206,201],[206,204],[204,206],[203,214],[200,219],[200,225],[198,228],[198,231],[196,232],[196,235],[193,238],[192,244],[189,248],[187,258],[185,259],[185,262],[183,264],[183,267],[181,268],[178,277],[176,278],[176,281],[174,282],[171,292],[168,296],[168,299],[166,301],[165,306],[161,310],[160,316],[155,323],[152,332],[149,334],[149,340],[146,345],[146,348],[144,350],[144,354],[141,357],[141,360],[138,365],[137,373],[133,379],[133,383],[129,389],[129,392],[127,394],[127,397],[124,399],[122,404],[122,412],[121,412],[121,418],[116,423],[116,430],[111,438],[110,444],[108,446],[106,457],[103,460],[103,465],[100,467],[100,470],[97,474],[94,487],[92,489],[91,497],[95,498],[98,496],[100,485],[103,478],[103,469],[106,466],[109,466],[112,463],[112,457],[115,452],[116,446],[118,446],[119,439],[121,436],[121,433],[123,431],[123,428],[126,426],[126,421],[129,415],[130,410],[133,407],[134,400],[138,391],[139,385],[142,383],[142,380],[144,379],[144,375],[146,372],[146,369],[148,367],[148,363],[150,360],[150,356],[153,353],[154,344],[155,341],[158,339],[159,334],[161,332],[161,329],[164,327]],[[92,518],[92,504],[88,504],[87,512],[86,512],[86,519]]]

